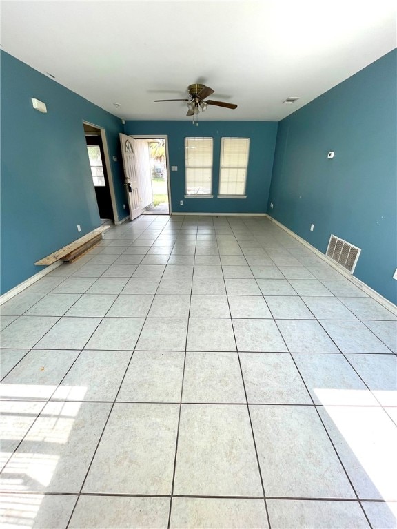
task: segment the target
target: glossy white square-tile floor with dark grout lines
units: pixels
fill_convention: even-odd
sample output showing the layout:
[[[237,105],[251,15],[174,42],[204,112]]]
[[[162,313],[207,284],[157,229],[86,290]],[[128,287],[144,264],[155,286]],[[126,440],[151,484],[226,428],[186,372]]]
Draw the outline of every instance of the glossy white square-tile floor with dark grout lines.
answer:
[[[272,222],[142,216],[1,307],[4,528],[396,528],[396,315]]]

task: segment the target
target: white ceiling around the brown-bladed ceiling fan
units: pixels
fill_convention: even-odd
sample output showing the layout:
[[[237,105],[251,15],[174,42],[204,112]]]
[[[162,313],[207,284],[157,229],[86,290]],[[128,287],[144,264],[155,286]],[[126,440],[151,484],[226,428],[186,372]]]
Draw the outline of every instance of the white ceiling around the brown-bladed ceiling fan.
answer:
[[[396,47],[392,0],[3,1],[3,50],[125,119],[278,121]],[[299,97],[283,105],[287,97]],[[113,103],[120,103],[116,109]]]

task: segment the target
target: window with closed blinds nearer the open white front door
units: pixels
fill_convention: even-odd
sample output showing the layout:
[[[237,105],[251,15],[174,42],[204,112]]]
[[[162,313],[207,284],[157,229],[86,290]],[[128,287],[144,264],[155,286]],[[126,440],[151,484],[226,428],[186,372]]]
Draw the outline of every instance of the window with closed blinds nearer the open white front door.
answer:
[[[212,138],[185,138],[186,196],[212,194]]]

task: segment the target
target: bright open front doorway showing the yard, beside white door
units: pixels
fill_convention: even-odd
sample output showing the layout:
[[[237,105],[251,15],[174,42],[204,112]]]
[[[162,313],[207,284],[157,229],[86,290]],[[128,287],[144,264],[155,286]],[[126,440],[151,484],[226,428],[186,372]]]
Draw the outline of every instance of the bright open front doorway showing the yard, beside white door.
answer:
[[[167,136],[132,136],[136,171],[148,198],[143,215],[170,215]]]

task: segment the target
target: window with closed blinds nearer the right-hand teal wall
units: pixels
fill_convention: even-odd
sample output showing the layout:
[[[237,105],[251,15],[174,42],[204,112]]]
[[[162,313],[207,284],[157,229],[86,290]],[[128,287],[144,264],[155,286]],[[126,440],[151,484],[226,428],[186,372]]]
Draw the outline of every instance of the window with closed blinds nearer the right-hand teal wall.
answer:
[[[250,138],[221,138],[219,196],[244,196]]]

